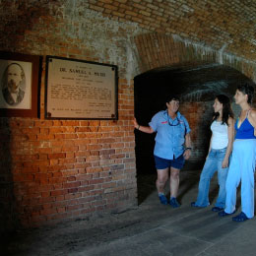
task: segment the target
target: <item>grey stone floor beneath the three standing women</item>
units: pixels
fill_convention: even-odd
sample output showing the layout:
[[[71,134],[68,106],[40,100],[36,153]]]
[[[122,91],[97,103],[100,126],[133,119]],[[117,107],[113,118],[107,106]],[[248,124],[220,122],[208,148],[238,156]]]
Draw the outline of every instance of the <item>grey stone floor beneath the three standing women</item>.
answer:
[[[218,217],[212,206],[191,208],[199,171],[183,171],[180,177],[182,206],[178,209],[160,205],[155,175],[139,176],[138,207],[90,220],[17,230],[6,240],[1,255],[255,256],[256,219],[239,224],[231,217]],[[217,192],[215,176],[211,201]],[[238,213],[239,202],[238,198]]]

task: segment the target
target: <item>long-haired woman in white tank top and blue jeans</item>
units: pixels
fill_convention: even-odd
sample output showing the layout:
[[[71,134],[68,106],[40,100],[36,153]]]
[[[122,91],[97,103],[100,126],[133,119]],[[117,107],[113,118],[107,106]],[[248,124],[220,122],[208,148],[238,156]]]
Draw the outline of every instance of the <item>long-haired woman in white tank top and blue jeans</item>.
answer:
[[[219,212],[224,210],[225,206],[225,180],[232,151],[234,121],[230,100],[227,96],[216,96],[213,107],[215,114],[211,125],[212,137],[209,153],[200,175],[197,201],[192,202],[191,206],[207,207],[210,205],[210,181],[218,171],[219,195],[212,211]]]

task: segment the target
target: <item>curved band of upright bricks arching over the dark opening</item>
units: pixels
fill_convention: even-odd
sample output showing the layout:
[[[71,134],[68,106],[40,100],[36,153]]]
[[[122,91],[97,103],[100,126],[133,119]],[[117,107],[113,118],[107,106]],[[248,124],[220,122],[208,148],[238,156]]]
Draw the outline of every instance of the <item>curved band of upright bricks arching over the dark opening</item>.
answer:
[[[220,63],[234,68],[256,82],[256,63],[221,50],[183,40],[177,35],[159,32],[143,33],[135,36],[139,56],[139,70],[146,71],[182,63]]]

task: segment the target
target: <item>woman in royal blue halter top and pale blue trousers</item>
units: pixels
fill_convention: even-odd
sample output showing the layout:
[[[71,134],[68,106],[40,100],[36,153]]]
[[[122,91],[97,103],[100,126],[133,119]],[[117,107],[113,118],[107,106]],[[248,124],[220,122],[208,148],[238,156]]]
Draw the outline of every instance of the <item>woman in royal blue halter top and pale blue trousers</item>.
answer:
[[[225,208],[219,213],[224,217],[235,212],[236,189],[241,181],[241,213],[234,222],[244,222],[254,217],[254,171],[256,162],[256,110],[252,108],[254,89],[248,84],[240,85],[235,93],[235,103],[241,113],[235,123],[235,140],[232,158],[226,178]]]

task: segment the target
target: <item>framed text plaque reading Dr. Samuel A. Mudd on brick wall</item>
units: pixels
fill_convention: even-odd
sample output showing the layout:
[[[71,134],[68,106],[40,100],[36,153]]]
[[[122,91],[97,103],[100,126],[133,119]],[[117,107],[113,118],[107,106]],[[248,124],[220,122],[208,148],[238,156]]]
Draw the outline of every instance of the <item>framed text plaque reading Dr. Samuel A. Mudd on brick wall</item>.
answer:
[[[46,56],[46,119],[113,119],[117,66]]]

